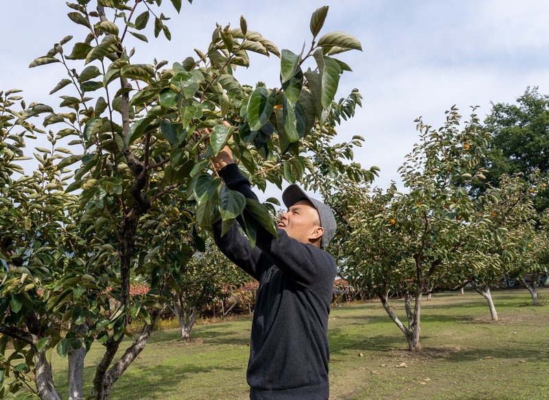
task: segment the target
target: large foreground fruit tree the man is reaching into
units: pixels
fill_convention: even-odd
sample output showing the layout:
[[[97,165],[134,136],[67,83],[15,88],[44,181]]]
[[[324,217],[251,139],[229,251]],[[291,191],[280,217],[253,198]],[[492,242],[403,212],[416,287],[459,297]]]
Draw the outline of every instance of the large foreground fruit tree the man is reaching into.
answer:
[[[165,25],[167,19],[160,12],[160,0],[78,0],[67,5],[71,9],[67,15],[76,25],[73,34],[78,38],[65,36],[30,64],[58,64],[65,71],[65,78],[51,91],[63,93],[62,102],[56,110],[43,104],[22,104],[22,112],[10,115],[27,133],[41,133],[28,121],[43,116],[42,125],[49,132],[42,134],[53,145],[72,139],[63,150],[38,150],[43,169],[50,175],[40,189],[44,192],[28,202],[29,209],[34,210],[36,204],[49,207],[49,202],[55,200],[57,208],[51,206],[44,213],[53,213],[58,228],[67,231],[68,237],[60,239],[60,229],[56,229],[56,236],[49,238],[49,225],[40,226],[43,232],[34,227],[43,223],[42,217],[37,217],[30,226],[18,226],[22,231],[16,240],[27,242],[15,246],[18,250],[7,244],[1,254],[3,263],[12,263],[17,258],[13,257],[14,251],[18,251],[23,256],[21,266],[27,269],[36,259],[54,254],[58,256],[54,257],[56,263],[64,269],[44,270],[43,276],[34,270],[8,270],[1,293],[4,318],[8,318],[11,329],[2,332],[3,343],[12,342],[16,352],[24,355],[24,362],[14,370],[28,370],[36,377],[38,395],[58,399],[45,352],[55,346],[61,355],[70,356],[72,350],[82,349],[83,344],[88,349],[97,340],[103,344],[104,354],[95,370],[92,396],[107,399],[170,303],[170,282],[178,277],[176,266],[187,265],[194,254],[189,250],[190,243],[199,246],[204,227],[221,217],[226,228],[246,209],[253,216],[246,220],[245,227],[252,242],[257,224],[276,234],[266,207],[222,185],[210,167],[209,157],[228,144],[243,172],[259,189],[265,189],[267,182],[280,186],[283,179],[307,180],[306,175],[316,175],[318,169],[331,174],[334,182],[340,175],[371,178],[375,169],[364,171],[360,165],[347,162],[360,138],[345,143],[344,151],[332,140],[340,117],[351,117],[355,106],[360,105],[360,93],[355,91],[334,101],[340,75],[350,70],[334,56],[361,47],[356,38],[342,32],[318,37],[327,7],[313,13],[312,45],[299,54],[279,51],[270,40],[248,30],[242,18],[237,29],[216,25],[209,47],[197,49],[195,56],[180,58],[173,64],[156,60],[134,64],[134,50],[126,49],[128,35],[147,42],[142,32],[154,19],[154,36],[162,33],[171,37]],[[181,1],[172,0],[172,5],[179,11]],[[261,83],[253,88],[236,80],[233,71],[249,67],[249,51],[280,58],[279,89]],[[223,121],[230,121],[231,127],[224,126]],[[12,129],[2,128],[3,134]],[[21,139],[8,139],[13,143],[3,154],[9,161],[11,153],[20,155],[14,148],[20,149]],[[60,152],[64,158],[54,163]],[[8,164],[8,169],[12,168],[12,163]],[[25,179],[30,178],[22,179],[18,185],[25,185]],[[63,188],[62,194],[49,193]],[[73,191],[78,193],[78,203],[69,194]],[[9,202],[6,207],[16,210],[11,212],[23,213],[23,202],[17,198]],[[173,231],[167,239],[152,234],[159,224],[172,223],[176,214],[179,242],[174,240]],[[38,233],[44,240],[33,236]],[[49,246],[42,246],[46,239]],[[40,247],[30,252],[38,242]],[[177,252],[178,263],[169,268],[153,257],[159,246],[172,248],[178,244],[183,246]],[[44,260],[41,263],[49,259]],[[130,296],[130,280],[136,276],[148,279],[147,294]],[[21,289],[19,282],[31,284],[38,277],[44,284],[36,289],[35,303],[22,301],[27,297],[23,292],[32,291],[25,291],[25,285]],[[14,287],[22,292],[12,294]],[[43,322],[36,324],[36,337],[21,342],[20,333],[30,333],[34,327],[25,320],[27,314],[33,315],[28,312],[31,310]],[[141,332],[115,360],[128,336],[128,323],[136,319],[144,321]],[[82,329],[63,330],[68,321]],[[33,357],[41,357],[40,366],[38,361],[32,363]],[[71,398],[82,397],[82,368],[82,362],[74,366],[69,362],[69,376],[76,382],[71,387]],[[19,375],[15,377],[19,379]],[[12,389],[22,384],[19,379]]]

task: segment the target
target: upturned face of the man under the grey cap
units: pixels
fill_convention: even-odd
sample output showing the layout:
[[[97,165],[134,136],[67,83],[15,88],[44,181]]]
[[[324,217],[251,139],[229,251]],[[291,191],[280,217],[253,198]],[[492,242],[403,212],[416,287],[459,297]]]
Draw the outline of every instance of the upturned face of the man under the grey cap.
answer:
[[[277,227],[301,243],[310,243],[311,239],[316,239],[319,230],[320,236],[324,231],[320,228],[318,211],[307,200],[296,202],[283,213]]]

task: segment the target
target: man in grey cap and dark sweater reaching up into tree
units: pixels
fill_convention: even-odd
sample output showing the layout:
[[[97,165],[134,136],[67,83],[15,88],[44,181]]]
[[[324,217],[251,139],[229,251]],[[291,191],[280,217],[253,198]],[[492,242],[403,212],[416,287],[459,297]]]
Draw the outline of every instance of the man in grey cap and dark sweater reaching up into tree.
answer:
[[[224,183],[257,200],[229,148],[213,158]],[[252,322],[247,379],[250,399],[329,397],[327,338],[336,262],[322,250],[336,230],[334,214],[297,185],[282,194],[288,211],[277,224],[278,238],[258,227],[251,248],[237,224],[215,243],[242,270],[259,281]],[[239,219],[242,225],[242,220]]]

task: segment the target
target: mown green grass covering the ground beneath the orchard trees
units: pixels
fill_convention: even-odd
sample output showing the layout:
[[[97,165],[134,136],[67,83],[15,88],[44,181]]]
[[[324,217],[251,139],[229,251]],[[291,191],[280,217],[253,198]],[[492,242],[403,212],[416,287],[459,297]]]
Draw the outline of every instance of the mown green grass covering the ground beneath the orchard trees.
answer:
[[[498,322],[474,292],[436,294],[423,302],[423,350],[413,354],[378,302],[334,308],[330,398],[549,399],[549,288],[540,294],[546,305],[533,307],[526,290],[494,291]],[[391,305],[404,318],[404,305]],[[154,332],[111,399],[248,399],[250,319],[200,325],[193,335],[185,343],[177,330]],[[88,384],[101,355],[94,344],[86,356]],[[52,352],[51,362],[66,398],[67,360]]]

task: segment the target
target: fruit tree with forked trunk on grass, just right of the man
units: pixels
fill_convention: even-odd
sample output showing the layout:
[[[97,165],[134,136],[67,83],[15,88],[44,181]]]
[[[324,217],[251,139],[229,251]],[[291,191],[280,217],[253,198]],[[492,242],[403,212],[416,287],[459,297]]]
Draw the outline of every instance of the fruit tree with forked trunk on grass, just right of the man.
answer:
[[[417,122],[421,141],[399,169],[406,192],[393,184],[368,193],[351,183],[335,201],[348,255],[343,275],[377,295],[410,351],[421,347],[423,294],[460,285],[456,261],[476,239],[467,231],[474,202],[465,186],[484,178],[480,160],[488,139],[475,114],[462,127],[456,108],[438,130]],[[390,307],[395,292],[404,296],[406,325]]]

